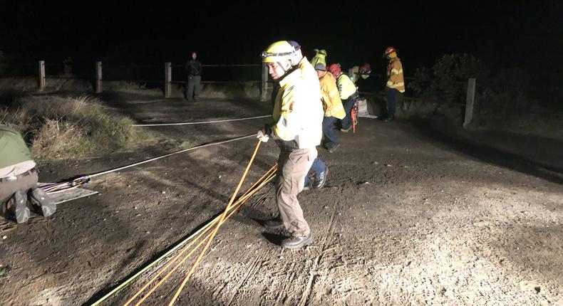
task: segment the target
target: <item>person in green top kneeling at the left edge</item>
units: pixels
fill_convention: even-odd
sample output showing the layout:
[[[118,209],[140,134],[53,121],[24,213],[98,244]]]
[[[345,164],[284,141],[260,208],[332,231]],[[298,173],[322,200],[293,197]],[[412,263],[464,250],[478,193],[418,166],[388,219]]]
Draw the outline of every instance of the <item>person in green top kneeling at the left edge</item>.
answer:
[[[17,223],[28,221],[30,209],[51,216],[56,205],[37,188],[36,163],[19,132],[0,125],[0,214]]]

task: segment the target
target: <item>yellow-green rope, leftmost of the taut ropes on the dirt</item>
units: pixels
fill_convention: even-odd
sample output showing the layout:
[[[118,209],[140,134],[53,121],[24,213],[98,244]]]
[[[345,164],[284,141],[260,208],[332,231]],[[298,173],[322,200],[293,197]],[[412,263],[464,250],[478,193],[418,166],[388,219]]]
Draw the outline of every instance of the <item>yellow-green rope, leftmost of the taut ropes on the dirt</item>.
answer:
[[[254,191],[251,191],[252,187],[250,189],[247,190],[247,192],[245,194],[243,194],[240,199],[237,200],[237,205],[236,207],[233,208],[232,213],[234,213],[234,211],[236,211],[240,205],[242,205],[242,203],[244,203],[245,201],[247,201],[247,199],[250,198],[250,196],[252,196],[256,191],[258,191],[259,189],[261,189],[263,186],[266,186],[266,184],[269,183],[269,181],[272,181],[272,179],[274,179],[275,177],[275,171],[277,170],[277,164],[274,164],[274,167],[272,167],[272,169],[270,169],[268,173],[271,173],[271,176],[269,177],[269,179],[267,179],[267,181],[263,181],[262,184],[260,184],[257,189],[254,189]],[[274,173],[272,173],[274,172]],[[264,175],[265,176],[265,175]],[[262,177],[264,177],[262,176]],[[256,185],[256,184],[254,184]],[[241,203],[242,202],[242,203]],[[240,203],[240,204],[239,204]],[[232,215],[231,213],[231,215]],[[231,216],[229,215],[229,216]],[[103,302],[104,300],[108,299],[108,297],[111,297],[112,295],[114,295],[116,292],[118,292],[119,290],[121,290],[123,287],[125,287],[126,285],[128,285],[129,283],[131,283],[133,280],[135,280],[136,278],[138,278],[141,274],[143,274],[146,270],[150,269],[151,267],[153,267],[153,265],[156,265],[157,263],[160,262],[160,260],[166,258],[168,255],[170,255],[171,253],[173,253],[175,250],[177,250],[178,248],[184,246],[188,241],[192,240],[195,236],[198,236],[197,238],[200,238],[203,233],[205,233],[213,224],[215,224],[217,221],[219,221],[220,216],[217,216],[216,218],[214,218],[212,221],[210,221],[209,223],[207,223],[204,227],[200,228],[198,231],[196,231],[195,233],[193,233],[192,235],[190,235],[189,237],[185,238],[183,241],[180,241],[180,243],[177,243],[176,246],[174,246],[173,248],[171,248],[170,250],[168,250],[165,254],[161,255],[159,258],[157,258],[156,260],[154,260],[152,263],[148,264],[145,266],[145,268],[141,269],[138,273],[135,273],[135,275],[131,276],[130,278],[128,278],[127,280],[124,280],[123,283],[120,283],[120,285],[118,285],[117,287],[115,287],[113,290],[111,290],[110,292],[108,292],[106,295],[104,295],[103,297],[100,297],[99,300],[93,302],[93,304],[91,304],[91,306],[96,306],[96,305],[100,305],[101,302]],[[197,240],[197,239],[196,239]],[[193,244],[193,243],[192,243]],[[186,247],[187,248],[187,247]]]

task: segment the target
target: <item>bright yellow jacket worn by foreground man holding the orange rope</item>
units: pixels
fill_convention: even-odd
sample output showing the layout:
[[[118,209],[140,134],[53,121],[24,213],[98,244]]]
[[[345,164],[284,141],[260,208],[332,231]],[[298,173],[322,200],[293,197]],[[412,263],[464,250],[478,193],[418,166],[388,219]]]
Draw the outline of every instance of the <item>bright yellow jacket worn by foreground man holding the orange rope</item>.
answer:
[[[321,144],[323,105],[316,71],[306,58],[279,81],[274,101],[274,136],[295,141],[299,149]]]

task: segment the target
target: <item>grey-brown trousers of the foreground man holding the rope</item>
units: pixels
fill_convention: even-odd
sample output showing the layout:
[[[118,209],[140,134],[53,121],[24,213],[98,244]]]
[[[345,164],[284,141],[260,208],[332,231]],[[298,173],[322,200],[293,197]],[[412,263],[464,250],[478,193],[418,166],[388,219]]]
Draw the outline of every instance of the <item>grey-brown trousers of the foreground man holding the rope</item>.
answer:
[[[297,194],[303,190],[305,176],[316,158],[316,148],[295,149],[279,153],[276,182],[276,202],[279,216],[292,236],[307,236],[311,233]]]

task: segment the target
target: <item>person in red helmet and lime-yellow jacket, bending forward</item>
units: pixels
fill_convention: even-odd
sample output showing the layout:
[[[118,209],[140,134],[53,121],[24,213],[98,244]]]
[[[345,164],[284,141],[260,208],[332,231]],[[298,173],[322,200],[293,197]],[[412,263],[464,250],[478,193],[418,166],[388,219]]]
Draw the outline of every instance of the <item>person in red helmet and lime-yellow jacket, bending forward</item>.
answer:
[[[336,78],[336,85],[338,85],[340,99],[342,100],[342,105],[344,105],[344,110],[346,110],[346,117],[340,120],[341,132],[348,132],[352,128],[352,107],[358,99],[358,89],[356,85],[352,82],[348,75],[342,73],[340,64],[333,63],[329,66],[329,72]]]

